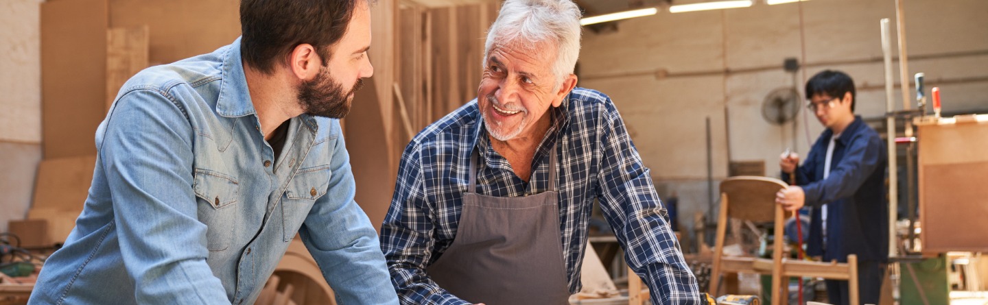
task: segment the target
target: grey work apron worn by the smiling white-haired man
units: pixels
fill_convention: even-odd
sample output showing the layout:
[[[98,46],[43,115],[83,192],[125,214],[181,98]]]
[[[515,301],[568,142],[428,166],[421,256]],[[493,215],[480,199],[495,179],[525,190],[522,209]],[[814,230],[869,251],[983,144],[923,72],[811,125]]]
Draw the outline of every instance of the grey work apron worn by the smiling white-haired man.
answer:
[[[476,193],[478,154],[470,156],[470,187],[453,244],[426,268],[456,297],[487,305],[568,304],[556,191],[555,145],[549,190],[523,197]]]

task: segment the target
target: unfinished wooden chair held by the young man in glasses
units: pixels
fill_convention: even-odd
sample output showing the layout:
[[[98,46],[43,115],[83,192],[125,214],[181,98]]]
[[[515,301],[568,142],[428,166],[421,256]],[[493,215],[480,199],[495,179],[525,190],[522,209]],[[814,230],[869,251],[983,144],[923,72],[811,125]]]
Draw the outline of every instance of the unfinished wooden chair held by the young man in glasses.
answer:
[[[858,305],[858,258],[848,256],[847,264],[787,261],[783,259],[784,212],[776,204],[776,192],[786,188],[781,180],[738,176],[720,183],[720,213],[717,218],[717,240],[713,250],[713,268],[710,273],[710,295],[717,295],[723,272],[750,272],[772,274],[772,305],[782,304],[787,296],[789,276],[813,276],[848,280],[851,304]],[[775,223],[775,243],[772,260],[758,258],[723,257],[724,234],[727,217],[753,222]]]

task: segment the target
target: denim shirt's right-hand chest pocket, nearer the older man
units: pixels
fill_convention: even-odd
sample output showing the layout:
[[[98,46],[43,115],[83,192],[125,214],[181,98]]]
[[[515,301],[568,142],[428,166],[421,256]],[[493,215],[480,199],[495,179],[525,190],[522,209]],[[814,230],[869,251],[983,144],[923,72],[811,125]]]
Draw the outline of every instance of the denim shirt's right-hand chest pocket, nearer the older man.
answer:
[[[316,200],[328,191],[329,178],[332,175],[328,164],[302,168],[295,173],[285,191],[282,204],[284,241],[290,242],[294,238]]]

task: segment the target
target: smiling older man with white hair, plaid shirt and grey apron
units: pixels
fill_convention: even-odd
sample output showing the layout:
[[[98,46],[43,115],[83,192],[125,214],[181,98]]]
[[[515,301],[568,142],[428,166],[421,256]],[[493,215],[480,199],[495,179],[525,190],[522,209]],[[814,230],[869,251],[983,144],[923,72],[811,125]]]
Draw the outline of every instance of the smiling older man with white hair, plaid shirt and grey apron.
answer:
[[[700,304],[615,105],[576,88],[580,15],[506,1],[477,99],[408,144],[380,232],[402,303],[566,304],[597,199],[653,302]]]

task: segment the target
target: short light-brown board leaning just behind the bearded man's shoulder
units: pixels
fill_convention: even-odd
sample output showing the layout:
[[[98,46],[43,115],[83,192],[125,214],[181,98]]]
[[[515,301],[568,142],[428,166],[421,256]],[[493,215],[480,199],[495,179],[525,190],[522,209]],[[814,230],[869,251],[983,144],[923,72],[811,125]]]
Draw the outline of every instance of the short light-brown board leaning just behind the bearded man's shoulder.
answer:
[[[107,31],[107,111],[124,83],[147,67],[148,31],[147,26]]]

